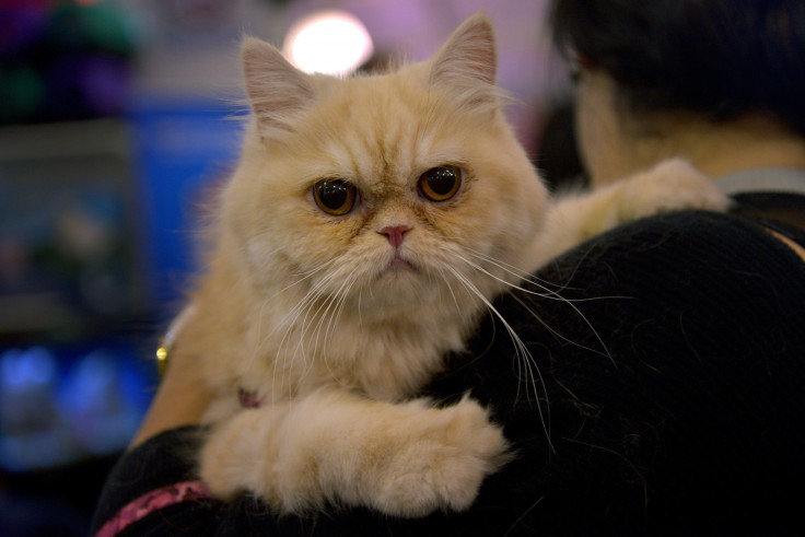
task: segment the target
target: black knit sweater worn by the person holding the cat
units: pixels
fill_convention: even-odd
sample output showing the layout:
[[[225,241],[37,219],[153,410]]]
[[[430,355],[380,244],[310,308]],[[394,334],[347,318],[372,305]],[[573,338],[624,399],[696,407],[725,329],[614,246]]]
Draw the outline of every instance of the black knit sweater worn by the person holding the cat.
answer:
[[[567,301],[516,292],[495,307],[541,382],[488,315],[469,351],[450,357],[424,390],[444,402],[470,390],[515,446],[468,512],[277,518],[248,498],[209,500],[153,513],[122,535],[798,535],[800,257],[751,220],[684,212],[595,237],[537,276]],[[95,529],[139,494],[190,477],[199,436],[171,431],[126,455]]]

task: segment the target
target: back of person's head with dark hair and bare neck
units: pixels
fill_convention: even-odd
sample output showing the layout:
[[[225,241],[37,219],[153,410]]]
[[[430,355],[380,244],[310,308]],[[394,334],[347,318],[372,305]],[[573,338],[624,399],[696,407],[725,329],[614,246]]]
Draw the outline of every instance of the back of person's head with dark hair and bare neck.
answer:
[[[805,170],[805,2],[557,0],[593,184],[682,156],[712,177]]]

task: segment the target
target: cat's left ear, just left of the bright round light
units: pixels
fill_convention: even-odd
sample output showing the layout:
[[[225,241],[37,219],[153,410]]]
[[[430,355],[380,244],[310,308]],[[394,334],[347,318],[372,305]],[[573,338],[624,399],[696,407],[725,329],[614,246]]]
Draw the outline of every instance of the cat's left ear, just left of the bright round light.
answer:
[[[256,37],[243,39],[241,58],[246,94],[260,133],[292,130],[291,119],[314,100],[308,77]]]

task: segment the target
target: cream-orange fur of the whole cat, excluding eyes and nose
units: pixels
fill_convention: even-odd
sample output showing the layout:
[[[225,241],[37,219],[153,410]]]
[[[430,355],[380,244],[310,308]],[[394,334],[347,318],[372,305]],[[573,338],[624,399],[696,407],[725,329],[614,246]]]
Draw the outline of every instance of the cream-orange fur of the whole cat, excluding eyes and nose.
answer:
[[[466,509],[506,441],[470,396],[410,399],[443,354],[495,295],[583,238],[726,203],[679,161],[550,201],[501,112],[483,15],[383,75],[306,75],[254,38],[242,55],[253,120],[178,342],[217,394],[200,474],[222,498],[248,491],[284,512]],[[445,164],[464,183],[429,201],[417,180]],[[316,206],[312,185],[327,177],[359,188],[351,212]],[[401,225],[395,247],[382,230]],[[259,408],[240,408],[238,389]]]

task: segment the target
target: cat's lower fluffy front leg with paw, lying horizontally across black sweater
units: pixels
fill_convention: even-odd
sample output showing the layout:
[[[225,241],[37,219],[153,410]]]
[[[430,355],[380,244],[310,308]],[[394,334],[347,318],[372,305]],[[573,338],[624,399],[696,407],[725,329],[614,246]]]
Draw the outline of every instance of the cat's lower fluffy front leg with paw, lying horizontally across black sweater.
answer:
[[[420,516],[468,507],[505,451],[500,428],[466,397],[432,408],[323,390],[222,423],[200,469],[217,495],[249,492],[281,512],[331,503]]]

